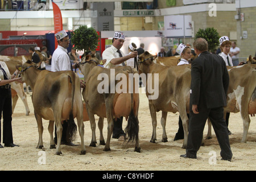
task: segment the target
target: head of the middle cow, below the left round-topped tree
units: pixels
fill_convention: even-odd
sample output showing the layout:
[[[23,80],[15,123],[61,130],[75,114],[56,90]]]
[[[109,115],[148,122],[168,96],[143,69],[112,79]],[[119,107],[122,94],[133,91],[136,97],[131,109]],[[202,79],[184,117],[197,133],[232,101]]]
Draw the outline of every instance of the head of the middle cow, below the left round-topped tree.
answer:
[[[94,55],[86,55],[82,58],[81,63],[79,63],[79,68],[84,75],[84,79],[89,74],[90,70],[93,67],[96,67],[99,64],[99,60]]]

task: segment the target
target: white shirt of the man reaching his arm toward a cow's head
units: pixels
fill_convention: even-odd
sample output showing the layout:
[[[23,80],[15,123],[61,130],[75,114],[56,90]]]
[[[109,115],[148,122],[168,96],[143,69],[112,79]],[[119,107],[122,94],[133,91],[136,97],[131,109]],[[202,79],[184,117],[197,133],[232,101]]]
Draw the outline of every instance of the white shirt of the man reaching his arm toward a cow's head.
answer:
[[[118,58],[119,57],[119,53],[117,52],[117,48],[115,48],[113,45],[111,47],[108,47],[105,49],[105,51],[102,52],[102,59],[106,59],[106,63],[103,65],[104,68],[113,68],[113,67],[119,67],[122,66],[121,64],[117,64],[114,65],[112,63],[110,63],[110,61],[114,58]],[[120,50],[122,56],[124,55],[124,53]]]

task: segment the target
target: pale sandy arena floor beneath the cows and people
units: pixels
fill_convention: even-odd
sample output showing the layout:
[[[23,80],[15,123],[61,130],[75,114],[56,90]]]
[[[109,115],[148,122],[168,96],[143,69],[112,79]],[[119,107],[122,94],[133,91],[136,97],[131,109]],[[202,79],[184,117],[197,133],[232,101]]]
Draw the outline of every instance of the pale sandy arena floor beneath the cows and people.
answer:
[[[166,130],[168,142],[163,143],[161,112],[157,113],[157,141],[150,143],[152,123],[146,94],[140,93],[139,105],[139,139],[141,153],[134,152],[134,143],[123,144],[117,139],[111,139],[111,151],[104,152],[104,146],[99,145],[99,131],[96,129],[97,146],[89,147],[92,132],[90,122],[85,124],[86,155],[80,155],[80,146],[61,145],[62,156],[55,155],[55,149],[49,149],[48,121],[43,120],[45,164],[41,160],[43,155],[38,144],[38,127],[34,116],[34,109],[30,94],[27,94],[30,115],[25,115],[22,101],[18,100],[13,114],[14,143],[20,147],[0,148],[0,170],[2,171],[254,171],[256,169],[256,119],[251,118],[247,143],[241,143],[243,122],[240,113],[231,113],[229,121],[230,144],[233,152],[232,162],[221,160],[220,147],[212,129],[213,139],[205,140],[197,153],[197,159],[181,158],[185,154],[182,147],[183,140],[174,141],[178,129],[178,113],[168,113]],[[96,117],[97,120],[97,117]],[[75,119],[76,121],[76,119]],[[123,121],[123,127],[127,124]],[[1,122],[2,125],[2,122]],[[2,127],[3,128],[3,127]],[[205,126],[204,137],[208,126]],[[104,138],[107,136],[107,123],[104,119]],[[76,144],[80,144],[79,133],[76,135]],[[2,141],[1,141],[1,144]],[[216,152],[216,163],[212,158],[212,151]],[[210,155],[209,155],[210,154]],[[209,160],[210,159],[210,160]],[[213,162],[213,163],[212,163]]]

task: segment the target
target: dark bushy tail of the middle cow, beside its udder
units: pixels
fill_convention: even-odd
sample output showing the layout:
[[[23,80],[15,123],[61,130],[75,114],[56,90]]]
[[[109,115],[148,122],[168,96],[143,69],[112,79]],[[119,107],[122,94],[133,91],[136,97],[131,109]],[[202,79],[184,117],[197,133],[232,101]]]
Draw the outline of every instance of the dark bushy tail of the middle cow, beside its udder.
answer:
[[[139,120],[138,117],[134,115],[133,93],[131,93],[131,112],[125,128],[125,140],[127,138],[129,138],[128,142],[134,142],[134,139],[138,140],[139,138]]]

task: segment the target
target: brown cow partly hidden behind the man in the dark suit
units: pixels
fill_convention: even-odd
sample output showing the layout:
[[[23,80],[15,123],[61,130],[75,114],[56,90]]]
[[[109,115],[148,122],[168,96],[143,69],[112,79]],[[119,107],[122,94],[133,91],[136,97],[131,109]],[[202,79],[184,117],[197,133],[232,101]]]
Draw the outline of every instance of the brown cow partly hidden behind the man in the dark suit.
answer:
[[[153,62],[153,57],[147,51],[139,56],[139,69],[142,73],[159,75],[159,79],[152,81],[159,82],[159,96],[156,99],[148,99],[150,114],[152,118],[153,133],[150,142],[155,143],[156,140],[156,112],[162,111],[161,124],[163,127],[162,142],[167,142],[166,135],[166,117],[167,112],[176,113],[179,111],[181,120],[183,121],[184,142],[183,148],[187,147],[188,138],[188,117],[189,113],[189,90],[191,84],[191,65],[180,65],[167,67]],[[153,78],[153,76],[152,76]],[[142,79],[143,81],[143,79]],[[145,80],[143,81],[145,83]],[[151,80],[148,80],[147,85]],[[145,84],[144,84],[145,85]],[[146,89],[146,95],[151,95]]]

